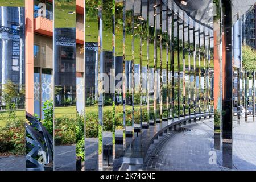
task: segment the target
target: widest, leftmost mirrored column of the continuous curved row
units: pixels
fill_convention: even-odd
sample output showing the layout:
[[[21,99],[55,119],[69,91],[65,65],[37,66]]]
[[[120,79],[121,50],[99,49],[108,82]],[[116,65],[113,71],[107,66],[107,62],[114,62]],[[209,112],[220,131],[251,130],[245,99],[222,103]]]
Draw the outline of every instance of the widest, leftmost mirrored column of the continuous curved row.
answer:
[[[85,0],[85,171],[98,170],[98,0]]]

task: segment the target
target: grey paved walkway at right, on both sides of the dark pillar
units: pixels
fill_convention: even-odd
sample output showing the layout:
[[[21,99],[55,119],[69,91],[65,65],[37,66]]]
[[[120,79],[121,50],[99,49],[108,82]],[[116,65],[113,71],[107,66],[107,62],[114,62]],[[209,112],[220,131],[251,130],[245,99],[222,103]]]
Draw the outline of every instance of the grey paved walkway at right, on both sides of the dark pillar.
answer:
[[[256,170],[256,123],[233,124],[233,170]],[[213,118],[183,125],[155,140],[142,170],[230,170],[214,150]],[[209,163],[216,154],[216,164]]]

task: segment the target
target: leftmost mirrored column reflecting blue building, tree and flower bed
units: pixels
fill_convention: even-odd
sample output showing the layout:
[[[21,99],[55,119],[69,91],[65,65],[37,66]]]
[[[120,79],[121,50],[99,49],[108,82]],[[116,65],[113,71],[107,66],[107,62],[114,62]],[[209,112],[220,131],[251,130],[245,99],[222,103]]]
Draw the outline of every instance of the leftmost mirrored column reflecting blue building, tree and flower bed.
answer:
[[[24,3],[24,0],[12,4],[5,0],[0,2],[0,156],[7,155],[6,159],[9,160],[1,160],[3,164],[0,164],[0,171],[20,171],[42,168],[44,165],[34,159],[37,152],[34,154],[32,141],[27,137],[31,140],[34,138],[28,130],[25,131],[25,127],[31,129],[32,123],[26,122],[25,112]],[[29,145],[29,148],[25,145]],[[38,148],[35,147],[34,150],[38,151]],[[18,167],[16,163],[22,165]]]

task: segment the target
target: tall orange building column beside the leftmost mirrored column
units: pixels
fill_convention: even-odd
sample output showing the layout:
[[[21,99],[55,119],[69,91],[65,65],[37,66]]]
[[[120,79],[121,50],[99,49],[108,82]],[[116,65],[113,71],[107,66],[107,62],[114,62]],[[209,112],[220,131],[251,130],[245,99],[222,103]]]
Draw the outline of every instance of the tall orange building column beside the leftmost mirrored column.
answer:
[[[34,1],[25,1],[26,111],[34,114]]]

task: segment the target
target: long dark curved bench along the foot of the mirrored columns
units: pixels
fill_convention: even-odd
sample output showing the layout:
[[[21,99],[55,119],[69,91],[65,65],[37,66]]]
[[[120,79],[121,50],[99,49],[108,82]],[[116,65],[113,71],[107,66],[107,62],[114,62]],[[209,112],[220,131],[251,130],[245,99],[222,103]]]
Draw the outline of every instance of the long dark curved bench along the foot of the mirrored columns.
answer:
[[[163,133],[167,133],[168,130],[172,129],[177,130],[177,125],[181,126],[182,123],[184,124],[189,120],[210,117],[212,115],[213,113],[188,115],[150,126],[149,129],[134,138],[129,146],[126,146],[126,150],[120,155],[121,162],[129,164],[129,170],[136,170],[138,164],[143,164],[150,144],[163,135]]]

